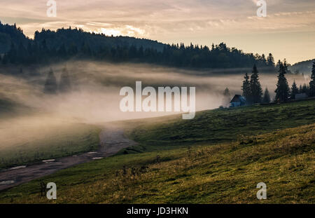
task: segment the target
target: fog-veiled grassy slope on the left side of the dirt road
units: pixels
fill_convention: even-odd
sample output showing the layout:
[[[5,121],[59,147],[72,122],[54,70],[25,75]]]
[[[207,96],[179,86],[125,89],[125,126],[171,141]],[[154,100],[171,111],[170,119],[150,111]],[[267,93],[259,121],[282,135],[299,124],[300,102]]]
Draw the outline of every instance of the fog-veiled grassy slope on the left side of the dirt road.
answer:
[[[25,93],[29,91],[27,86]],[[99,126],[56,118],[14,96],[0,95],[0,170],[99,147]]]

